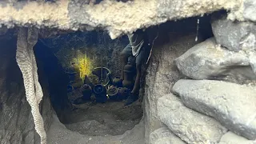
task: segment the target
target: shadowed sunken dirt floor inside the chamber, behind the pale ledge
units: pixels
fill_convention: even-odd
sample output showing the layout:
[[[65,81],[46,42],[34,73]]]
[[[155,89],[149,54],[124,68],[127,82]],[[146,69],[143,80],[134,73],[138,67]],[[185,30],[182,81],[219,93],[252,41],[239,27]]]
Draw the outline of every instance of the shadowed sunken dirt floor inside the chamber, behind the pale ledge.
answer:
[[[90,136],[124,134],[142,118],[140,102],[129,107],[125,107],[123,102],[86,102],[74,106],[78,109],[67,112],[63,117],[66,128]]]

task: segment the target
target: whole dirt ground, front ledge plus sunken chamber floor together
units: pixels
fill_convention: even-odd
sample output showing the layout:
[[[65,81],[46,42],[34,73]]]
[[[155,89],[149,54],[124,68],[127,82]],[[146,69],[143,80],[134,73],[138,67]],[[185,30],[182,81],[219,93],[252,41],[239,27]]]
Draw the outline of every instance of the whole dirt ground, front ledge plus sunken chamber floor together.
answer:
[[[141,102],[124,106],[124,102],[74,105],[62,117],[54,115],[47,132],[47,143],[54,144],[143,144],[144,123]]]

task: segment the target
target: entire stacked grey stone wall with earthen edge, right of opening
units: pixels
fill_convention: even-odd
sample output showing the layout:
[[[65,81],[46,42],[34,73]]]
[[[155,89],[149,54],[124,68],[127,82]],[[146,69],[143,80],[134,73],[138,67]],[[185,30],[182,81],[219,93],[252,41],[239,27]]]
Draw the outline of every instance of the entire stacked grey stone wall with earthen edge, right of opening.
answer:
[[[182,33],[154,49],[146,78],[146,143],[167,134],[185,143],[256,142],[255,23],[214,14],[211,26],[214,37],[204,42]]]

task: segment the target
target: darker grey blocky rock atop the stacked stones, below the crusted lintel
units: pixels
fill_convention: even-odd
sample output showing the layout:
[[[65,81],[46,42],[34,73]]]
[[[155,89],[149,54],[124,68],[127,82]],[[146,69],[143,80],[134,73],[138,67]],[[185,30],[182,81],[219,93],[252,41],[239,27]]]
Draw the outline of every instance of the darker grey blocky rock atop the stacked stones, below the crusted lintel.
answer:
[[[253,22],[232,22],[223,15],[213,17],[211,25],[218,44],[228,50],[256,50],[256,25]]]

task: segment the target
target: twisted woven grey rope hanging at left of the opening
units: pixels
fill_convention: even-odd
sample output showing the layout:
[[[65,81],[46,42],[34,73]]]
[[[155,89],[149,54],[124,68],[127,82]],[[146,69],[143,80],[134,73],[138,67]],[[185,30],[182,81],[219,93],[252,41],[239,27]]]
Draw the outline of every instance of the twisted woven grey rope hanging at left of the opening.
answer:
[[[26,100],[31,106],[35,130],[41,138],[41,144],[46,144],[46,131],[39,111],[42,100],[42,87],[38,82],[38,67],[34,57],[33,47],[38,42],[38,31],[35,28],[20,28],[18,30],[16,60],[22,71],[26,90]]]

